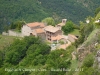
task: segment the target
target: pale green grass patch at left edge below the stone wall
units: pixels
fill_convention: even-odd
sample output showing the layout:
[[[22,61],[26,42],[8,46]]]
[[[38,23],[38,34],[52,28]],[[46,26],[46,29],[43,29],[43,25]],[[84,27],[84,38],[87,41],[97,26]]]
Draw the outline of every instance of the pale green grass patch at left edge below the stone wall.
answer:
[[[3,50],[3,48],[10,45],[14,41],[14,39],[18,38],[19,37],[0,35],[0,50]]]

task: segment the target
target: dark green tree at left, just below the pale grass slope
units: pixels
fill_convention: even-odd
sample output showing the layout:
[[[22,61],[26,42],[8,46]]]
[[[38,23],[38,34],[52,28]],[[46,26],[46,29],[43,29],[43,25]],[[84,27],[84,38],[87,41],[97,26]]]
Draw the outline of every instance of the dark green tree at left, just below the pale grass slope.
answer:
[[[15,41],[14,45],[8,48],[8,52],[5,55],[5,62],[11,63],[13,65],[18,64],[26,55],[27,44],[23,40],[19,40],[17,43]]]

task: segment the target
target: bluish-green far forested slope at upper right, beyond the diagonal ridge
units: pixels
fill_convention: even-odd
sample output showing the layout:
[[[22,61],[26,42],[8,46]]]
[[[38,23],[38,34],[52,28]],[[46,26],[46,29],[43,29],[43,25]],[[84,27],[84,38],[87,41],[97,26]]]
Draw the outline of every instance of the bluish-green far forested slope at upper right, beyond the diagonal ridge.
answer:
[[[83,20],[87,15],[93,15],[93,10],[99,6],[99,0],[39,0],[41,5],[48,9],[49,12],[56,13],[58,16],[60,15],[63,18],[70,19],[75,23]],[[56,4],[55,4],[56,3]],[[96,4],[97,5],[96,5]],[[87,5],[87,6],[85,6]],[[77,16],[76,16],[77,15]],[[78,20],[78,21],[77,21]]]

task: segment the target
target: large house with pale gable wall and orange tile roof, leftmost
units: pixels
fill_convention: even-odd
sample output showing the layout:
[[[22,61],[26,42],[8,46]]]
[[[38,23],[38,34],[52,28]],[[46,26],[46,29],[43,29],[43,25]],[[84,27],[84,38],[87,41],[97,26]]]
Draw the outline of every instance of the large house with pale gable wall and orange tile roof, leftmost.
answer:
[[[33,23],[28,23],[26,25],[23,25],[21,31],[24,36],[36,35],[37,33],[43,32],[44,27],[45,27],[44,23],[33,22]]]

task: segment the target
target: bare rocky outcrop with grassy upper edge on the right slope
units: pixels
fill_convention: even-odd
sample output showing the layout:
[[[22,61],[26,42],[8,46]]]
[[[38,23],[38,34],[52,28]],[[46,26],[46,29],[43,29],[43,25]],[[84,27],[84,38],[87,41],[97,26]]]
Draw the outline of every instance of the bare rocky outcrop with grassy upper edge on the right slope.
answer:
[[[82,61],[86,55],[96,51],[96,45],[99,44],[98,38],[100,36],[100,30],[95,29],[87,38],[87,40],[77,48],[78,60]]]

